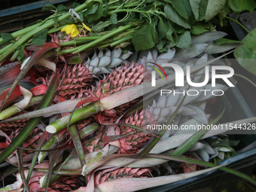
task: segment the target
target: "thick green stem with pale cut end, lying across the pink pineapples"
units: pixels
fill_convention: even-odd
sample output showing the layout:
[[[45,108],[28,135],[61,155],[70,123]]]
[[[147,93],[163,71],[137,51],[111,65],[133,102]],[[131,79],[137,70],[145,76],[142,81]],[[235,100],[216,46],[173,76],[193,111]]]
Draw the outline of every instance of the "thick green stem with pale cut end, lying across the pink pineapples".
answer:
[[[98,113],[100,111],[99,106],[100,106],[99,101],[96,101],[96,102],[90,103],[84,108],[79,108],[72,115],[72,118],[70,120],[70,125],[78,122],[79,120],[86,119],[87,117],[90,117],[92,114]],[[71,114],[54,121],[53,123],[51,123],[49,126],[46,127],[46,131],[49,133],[56,133],[61,130],[64,130],[69,124],[70,117],[71,117]]]

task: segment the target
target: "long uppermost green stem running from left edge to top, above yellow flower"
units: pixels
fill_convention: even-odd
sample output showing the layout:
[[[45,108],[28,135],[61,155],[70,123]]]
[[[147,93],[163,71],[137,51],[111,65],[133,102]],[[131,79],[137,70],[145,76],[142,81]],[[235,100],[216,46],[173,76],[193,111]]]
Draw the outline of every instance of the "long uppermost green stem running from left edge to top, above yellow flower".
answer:
[[[83,10],[84,8],[87,8],[88,5],[90,4],[90,2],[93,2],[94,0],[88,0],[87,2],[84,2],[83,5],[78,6],[77,8],[75,8],[76,12],[79,12],[81,10]],[[61,22],[63,20],[66,20],[68,17],[70,17],[69,13],[66,13],[64,15],[62,15],[61,17],[57,18],[57,22]],[[21,45],[23,45],[26,41],[28,41],[30,38],[32,38],[33,35],[35,35],[35,33],[40,32],[42,29],[48,29],[51,26],[53,26],[55,23],[53,20],[49,20],[48,22],[44,23],[44,25],[42,26],[38,26],[37,28],[35,28],[34,30],[28,32],[26,35],[24,35],[22,38],[19,39],[19,41],[16,41],[9,49],[8,51],[6,51],[5,53],[3,53],[0,56],[0,62],[2,62],[7,56],[9,56],[11,53],[14,52],[14,50],[17,47],[20,47]]]

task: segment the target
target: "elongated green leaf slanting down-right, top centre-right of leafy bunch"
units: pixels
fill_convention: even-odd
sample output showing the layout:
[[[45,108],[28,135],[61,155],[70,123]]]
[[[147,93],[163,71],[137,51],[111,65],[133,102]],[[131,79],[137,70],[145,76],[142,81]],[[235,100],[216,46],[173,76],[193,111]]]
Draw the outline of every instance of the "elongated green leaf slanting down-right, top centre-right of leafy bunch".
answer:
[[[185,22],[184,18],[181,17],[170,5],[164,6],[164,13],[166,17],[179,26],[183,26],[185,29],[190,29],[190,26]]]

